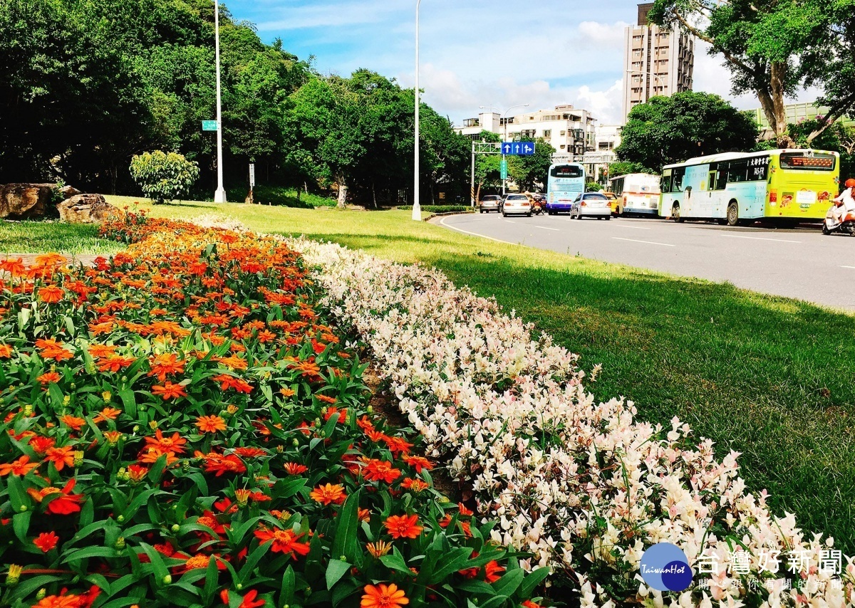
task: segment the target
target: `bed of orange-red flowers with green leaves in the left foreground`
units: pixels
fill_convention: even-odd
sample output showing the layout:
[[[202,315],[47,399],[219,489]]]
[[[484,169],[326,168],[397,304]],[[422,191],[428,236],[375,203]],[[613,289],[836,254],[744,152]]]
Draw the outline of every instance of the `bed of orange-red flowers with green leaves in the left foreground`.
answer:
[[[103,233],[138,244],[0,263],[0,605],[528,600],[543,575],[368,411],[298,254],[133,214]]]

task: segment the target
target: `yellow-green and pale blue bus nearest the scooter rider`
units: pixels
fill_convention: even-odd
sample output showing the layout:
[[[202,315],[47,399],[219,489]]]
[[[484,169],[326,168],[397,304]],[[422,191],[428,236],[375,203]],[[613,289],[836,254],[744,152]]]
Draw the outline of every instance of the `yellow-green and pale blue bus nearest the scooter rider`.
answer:
[[[739,225],[823,219],[840,187],[840,155],[813,149],[725,152],[666,165],[659,215]]]

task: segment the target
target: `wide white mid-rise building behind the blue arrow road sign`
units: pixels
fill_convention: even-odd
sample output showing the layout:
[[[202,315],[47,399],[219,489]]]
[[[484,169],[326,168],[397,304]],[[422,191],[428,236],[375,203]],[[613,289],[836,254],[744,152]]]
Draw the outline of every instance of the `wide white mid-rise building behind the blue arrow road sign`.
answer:
[[[596,119],[584,109],[571,105],[538,110],[528,114],[516,114],[503,119],[496,112],[481,112],[478,118],[463,121],[455,131],[478,139],[482,131],[501,135],[504,141],[519,141],[543,137],[556,149],[556,159],[572,160],[570,157],[584,155],[596,149]]]

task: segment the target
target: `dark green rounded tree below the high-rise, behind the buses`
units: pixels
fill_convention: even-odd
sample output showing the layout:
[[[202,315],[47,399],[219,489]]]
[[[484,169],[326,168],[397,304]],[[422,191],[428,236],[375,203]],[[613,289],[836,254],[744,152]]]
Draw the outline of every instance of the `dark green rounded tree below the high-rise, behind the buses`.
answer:
[[[694,156],[751,149],[757,135],[757,123],[722,97],[685,91],[635,106],[616,152],[620,161],[659,172]]]

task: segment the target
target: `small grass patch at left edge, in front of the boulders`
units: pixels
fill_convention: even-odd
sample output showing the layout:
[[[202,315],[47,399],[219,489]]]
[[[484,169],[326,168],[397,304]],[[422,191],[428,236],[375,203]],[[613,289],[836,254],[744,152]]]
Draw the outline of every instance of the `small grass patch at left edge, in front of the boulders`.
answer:
[[[98,238],[96,225],[0,220],[0,254],[109,254],[121,245]]]

